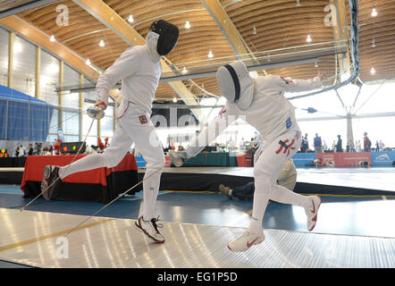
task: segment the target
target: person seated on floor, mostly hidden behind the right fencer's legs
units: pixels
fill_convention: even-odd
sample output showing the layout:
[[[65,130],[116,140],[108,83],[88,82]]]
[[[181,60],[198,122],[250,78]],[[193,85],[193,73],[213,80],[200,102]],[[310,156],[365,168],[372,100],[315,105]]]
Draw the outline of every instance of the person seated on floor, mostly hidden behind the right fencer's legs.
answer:
[[[282,168],[282,173],[277,179],[277,184],[293,191],[295,189],[297,180],[297,171],[292,159],[288,159]],[[219,186],[220,192],[228,198],[237,198],[240,200],[252,200],[254,198],[254,181],[248,182],[247,185],[231,189],[221,184]]]

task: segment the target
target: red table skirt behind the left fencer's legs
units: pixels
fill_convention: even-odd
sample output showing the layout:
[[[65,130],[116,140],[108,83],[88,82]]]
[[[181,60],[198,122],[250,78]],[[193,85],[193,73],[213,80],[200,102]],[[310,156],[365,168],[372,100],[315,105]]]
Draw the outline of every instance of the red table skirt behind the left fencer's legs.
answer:
[[[75,158],[75,161],[88,155],[79,155]],[[65,156],[28,156],[26,159],[25,170],[23,172],[21,190],[25,191],[25,185],[27,181],[42,181],[44,167],[47,164],[64,166],[71,163],[74,155]],[[122,171],[137,171],[138,167],[136,164],[136,159],[134,155],[128,153],[122,160],[120,164],[113,168],[97,168],[94,170],[89,170],[85,172],[76,172],[67,176],[62,181],[72,182],[72,183],[91,183],[91,184],[101,184],[103,186],[107,185],[106,177],[112,172],[122,172]]]

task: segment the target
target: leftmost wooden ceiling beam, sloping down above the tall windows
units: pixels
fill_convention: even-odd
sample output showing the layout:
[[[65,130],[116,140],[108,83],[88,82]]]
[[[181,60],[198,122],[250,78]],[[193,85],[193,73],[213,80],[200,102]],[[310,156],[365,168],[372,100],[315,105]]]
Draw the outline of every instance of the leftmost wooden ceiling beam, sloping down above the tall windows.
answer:
[[[95,69],[88,66],[85,63],[85,59],[75,54],[70,48],[63,46],[61,43],[56,41],[51,42],[48,35],[40,29],[30,25],[27,21],[23,21],[17,16],[9,16],[0,19],[0,25],[4,26],[5,29],[11,29],[17,32],[23,36],[23,38],[27,38],[35,45],[45,48],[52,55],[59,57],[64,62],[69,63],[77,71],[85,74],[90,80],[96,81],[98,79],[100,74]]]

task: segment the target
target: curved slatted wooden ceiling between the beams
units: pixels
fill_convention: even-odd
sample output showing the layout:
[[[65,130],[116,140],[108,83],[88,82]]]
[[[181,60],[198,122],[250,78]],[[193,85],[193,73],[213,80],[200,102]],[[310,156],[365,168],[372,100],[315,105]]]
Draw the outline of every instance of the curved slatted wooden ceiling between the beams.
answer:
[[[206,0],[209,2],[210,0]],[[307,45],[307,34],[312,43],[331,42],[335,40],[334,29],[324,23],[328,14],[325,7],[333,0],[215,0],[222,4],[234,27],[240,33],[249,50],[253,53],[293,46]],[[182,68],[182,63],[206,61],[209,50],[214,58],[234,56],[231,43],[224,36],[222,29],[203,1],[200,0],[104,0],[115,13],[127,20],[132,14],[134,21],[130,26],[145,38],[152,21],[164,19],[180,28],[181,34],[177,46],[166,58]],[[349,6],[345,1],[348,13]],[[56,7],[64,4],[69,10],[69,25],[55,24],[58,12]],[[359,61],[360,79],[363,81],[392,80],[395,77],[395,2],[393,0],[358,0],[359,5]],[[372,8],[378,15],[372,17]],[[18,14],[29,24],[41,29],[47,35],[54,35],[56,40],[69,47],[76,54],[87,58],[98,68],[105,70],[122,54],[129,45],[112,29],[109,29],[94,16],[73,1],[59,1],[44,7]],[[186,29],[189,21],[191,28]],[[253,32],[254,27],[256,34]],[[376,47],[372,47],[372,39]],[[105,46],[100,47],[100,40]],[[311,78],[317,70],[333,76],[336,69],[336,56],[320,59],[315,63],[289,66],[267,70],[270,74],[282,74],[294,78]],[[370,73],[372,66],[375,75]],[[262,72],[260,74],[263,74]],[[194,80],[208,92],[219,95],[216,80],[202,78]],[[186,84],[188,87],[188,84]],[[156,91],[158,98],[171,98],[176,92],[168,83],[161,83]],[[198,95],[197,96],[201,96]]]

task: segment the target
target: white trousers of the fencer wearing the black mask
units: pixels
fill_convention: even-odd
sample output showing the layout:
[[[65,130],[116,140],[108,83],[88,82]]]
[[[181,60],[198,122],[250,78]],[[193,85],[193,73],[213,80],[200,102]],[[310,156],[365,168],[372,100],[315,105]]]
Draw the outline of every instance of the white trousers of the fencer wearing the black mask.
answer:
[[[148,221],[155,217],[155,203],[165,164],[164,150],[157,138],[155,126],[144,110],[127,100],[122,100],[121,105],[116,108],[116,114],[117,128],[105,153],[85,156],[72,163],[69,168],[64,166],[60,168],[59,175],[63,179],[74,172],[114,167],[121,163],[131,144],[135,143],[147,162],[144,175],[144,179],[147,180],[143,182],[143,204],[140,214]]]

